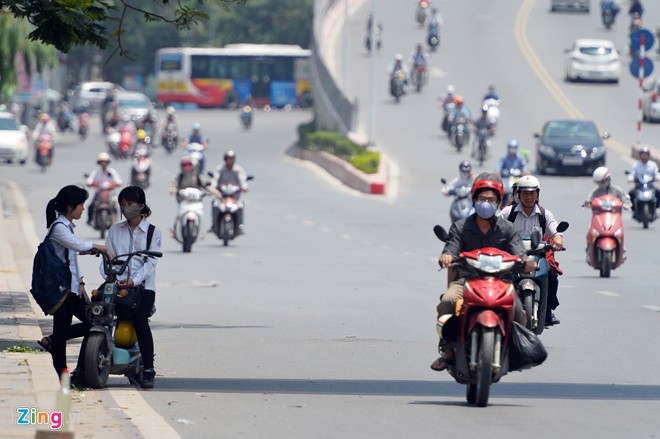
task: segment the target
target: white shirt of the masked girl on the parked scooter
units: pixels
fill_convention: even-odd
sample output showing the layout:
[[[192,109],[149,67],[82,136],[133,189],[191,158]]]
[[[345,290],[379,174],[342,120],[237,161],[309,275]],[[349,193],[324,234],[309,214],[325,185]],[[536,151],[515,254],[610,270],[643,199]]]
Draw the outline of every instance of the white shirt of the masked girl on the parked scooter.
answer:
[[[149,230],[149,221],[142,219],[140,224],[131,232],[127,221],[113,224],[108,230],[108,236],[105,245],[112,250],[115,256],[133,253],[138,250],[147,250],[147,232]],[[154,236],[151,239],[149,250],[160,251],[161,233],[156,227]],[[145,258],[134,256],[128,264],[124,274],[119,276],[118,280],[133,279],[135,286],[144,282],[144,287],[148,290],[156,290],[156,263],[158,258]],[[105,278],[105,269],[101,264],[101,275]]]

